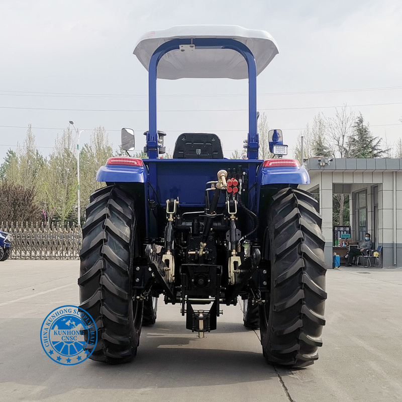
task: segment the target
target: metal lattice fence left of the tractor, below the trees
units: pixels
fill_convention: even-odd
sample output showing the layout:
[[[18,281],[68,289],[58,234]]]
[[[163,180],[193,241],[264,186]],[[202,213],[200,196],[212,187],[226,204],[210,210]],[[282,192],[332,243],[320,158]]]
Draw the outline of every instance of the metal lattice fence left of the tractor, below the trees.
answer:
[[[0,230],[13,236],[11,258],[33,260],[79,258],[82,232],[77,226],[2,222]]]

